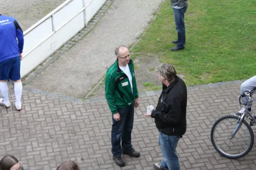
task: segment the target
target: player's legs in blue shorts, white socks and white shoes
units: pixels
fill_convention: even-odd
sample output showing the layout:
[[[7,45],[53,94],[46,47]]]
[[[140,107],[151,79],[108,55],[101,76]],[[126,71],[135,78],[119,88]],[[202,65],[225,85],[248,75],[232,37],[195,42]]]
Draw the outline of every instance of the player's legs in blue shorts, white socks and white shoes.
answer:
[[[22,82],[20,80],[20,57],[6,59],[0,62],[0,91],[3,98],[0,99],[0,104],[6,108],[10,107],[9,102],[9,88],[7,82],[11,79],[14,81],[15,91],[15,106],[17,110],[21,110],[21,95],[22,95]]]

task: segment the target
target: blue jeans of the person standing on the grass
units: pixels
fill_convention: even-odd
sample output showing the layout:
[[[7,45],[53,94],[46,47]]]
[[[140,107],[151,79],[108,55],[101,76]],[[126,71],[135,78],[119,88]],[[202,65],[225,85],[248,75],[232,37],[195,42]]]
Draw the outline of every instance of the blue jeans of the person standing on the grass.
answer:
[[[187,10],[187,6],[184,6],[181,9],[173,8],[174,19],[175,19],[175,27],[178,33],[178,43],[177,46],[180,48],[185,47],[186,43],[186,31],[185,31],[185,23],[184,23],[184,14]]]

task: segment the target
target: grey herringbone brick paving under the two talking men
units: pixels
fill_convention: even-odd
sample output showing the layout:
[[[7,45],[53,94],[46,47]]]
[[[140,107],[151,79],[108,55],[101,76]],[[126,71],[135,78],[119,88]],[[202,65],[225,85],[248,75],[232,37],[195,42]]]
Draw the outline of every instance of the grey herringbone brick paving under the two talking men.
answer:
[[[219,116],[239,109],[240,85],[190,90],[187,132],[177,153],[182,170],[255,170],[256,147],[239,160],[221,157],[210,142],[210,130]],[[158,132],[145,107],[156,105],[157,95],[141,96],[132,133],[140,158],[124,156],[122,170],[153,170],[161,160]],[[23,110],[0,108],[0,155],[12,154],[29,170],[55,170],[73,159],[82,170],[120,170],[111,159],[111,113],[106,102],[70,102],[41,94],[23,93]],[[12,95],[12,105],[15,99]],[[255,127],[253,127],[255,131]]]

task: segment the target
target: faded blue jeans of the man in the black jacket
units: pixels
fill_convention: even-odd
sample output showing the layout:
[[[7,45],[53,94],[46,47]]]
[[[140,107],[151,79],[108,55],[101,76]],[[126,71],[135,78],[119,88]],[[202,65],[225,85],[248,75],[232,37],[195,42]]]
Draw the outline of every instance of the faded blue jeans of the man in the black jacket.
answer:
[[[163,161],[161,166],[168,170],[180,170],[176,147],[180,136],[168,136],[159,132],[159,144],[161,146]]]

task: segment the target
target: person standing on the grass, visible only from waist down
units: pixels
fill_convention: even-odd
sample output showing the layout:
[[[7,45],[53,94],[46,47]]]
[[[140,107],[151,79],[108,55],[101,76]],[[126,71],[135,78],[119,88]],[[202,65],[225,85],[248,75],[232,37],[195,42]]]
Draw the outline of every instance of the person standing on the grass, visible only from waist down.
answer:
[[[172,51],[178,51],[185,48],[186,43],[186,31],[184,23],[184,14],[188,8],[188,0],[171,0],[173,8],[175,27],[178,33],[178,39],[172,41],[177,43],[176,47],[172,48]]]

